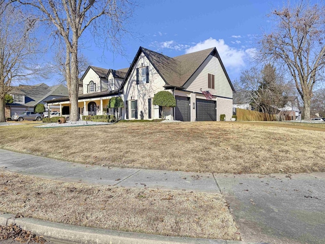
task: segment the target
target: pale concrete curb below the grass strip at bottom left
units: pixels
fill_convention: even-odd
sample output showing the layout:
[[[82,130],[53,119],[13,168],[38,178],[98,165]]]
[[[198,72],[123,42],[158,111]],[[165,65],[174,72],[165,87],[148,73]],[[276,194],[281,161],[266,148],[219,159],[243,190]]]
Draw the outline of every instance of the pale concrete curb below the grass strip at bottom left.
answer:
[[[10,214],[0,214],[0,225],[17,224],[23,230],[43,236],[54,243],[94,243],[94,244],[257,244],[257,242],[203,239],[177,236],[163,236],[96,229],[84,226],[60,224],[33,218],[17,218]]]

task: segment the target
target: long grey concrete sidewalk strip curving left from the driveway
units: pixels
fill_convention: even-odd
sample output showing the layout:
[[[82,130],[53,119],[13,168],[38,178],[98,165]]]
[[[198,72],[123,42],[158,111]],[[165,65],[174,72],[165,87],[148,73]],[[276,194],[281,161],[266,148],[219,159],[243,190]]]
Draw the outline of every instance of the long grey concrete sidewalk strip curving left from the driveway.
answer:
[[[220,193],[212,173],[77,164],[0,149],[0,167],[13,172],[86,184]]]

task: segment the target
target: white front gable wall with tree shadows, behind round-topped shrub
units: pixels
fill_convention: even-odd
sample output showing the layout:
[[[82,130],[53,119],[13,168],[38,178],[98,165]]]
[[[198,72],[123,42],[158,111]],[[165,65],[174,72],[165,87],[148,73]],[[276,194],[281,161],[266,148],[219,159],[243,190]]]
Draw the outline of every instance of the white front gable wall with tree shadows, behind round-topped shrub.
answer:
[[[137,85],[137,68],[149,66],[149,83],[144,83]],[[158,72],[149,62],[147,57],[141,53],[135,67],[131,71],[130,76],[128,77],[123,91],[124,91],[124,103],[125,101],[138,100],[138,119],[140,119],[140,112],[143,111],[144,119],[148,118],[148,99],[151,98],[151,102],[153,100],[154,95],[160,90],[165,90],[164,85],[165,81],[160,77]],[[151,119],[154,118],[154,110],[153,105],[151,106]],[[128,111],[130,113],[130,104],[128,104]],[[171,112],[166,113],[167,119],[172,119]],[[125,105],[123,108],[123,118],[125,119]],[[129,119],[134,119],[129,116]]]

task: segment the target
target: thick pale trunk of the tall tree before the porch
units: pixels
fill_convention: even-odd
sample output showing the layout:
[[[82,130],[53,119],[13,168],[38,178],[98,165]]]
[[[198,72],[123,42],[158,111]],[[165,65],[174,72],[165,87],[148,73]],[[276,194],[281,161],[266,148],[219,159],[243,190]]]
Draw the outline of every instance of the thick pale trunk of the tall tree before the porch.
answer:
[[[78,121],[78,39],[73,38],[71,50],[71,83],[69,88],[69,99],[71,104],[70,121]]]

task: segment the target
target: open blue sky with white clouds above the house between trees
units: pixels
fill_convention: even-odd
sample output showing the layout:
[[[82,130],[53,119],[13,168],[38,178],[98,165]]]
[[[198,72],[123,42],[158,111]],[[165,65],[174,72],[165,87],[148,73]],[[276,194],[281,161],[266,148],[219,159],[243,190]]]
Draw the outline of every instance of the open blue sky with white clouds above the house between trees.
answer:
[[[93,66],[121,69],[132,63],[140,46],[170,57],[216,47],[231,80],[235,80],[249,68],[257,40],[271,28],[267,14],[283,3],[287,2],[138,0],[128,25],[137,38],[123,40],[124,56],[103,50],[87,36],[83,37],[82,53]],[[54,77],[46,83],[55,82]]]

